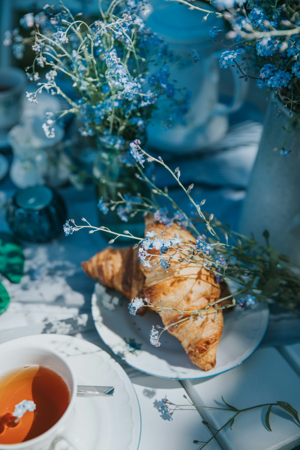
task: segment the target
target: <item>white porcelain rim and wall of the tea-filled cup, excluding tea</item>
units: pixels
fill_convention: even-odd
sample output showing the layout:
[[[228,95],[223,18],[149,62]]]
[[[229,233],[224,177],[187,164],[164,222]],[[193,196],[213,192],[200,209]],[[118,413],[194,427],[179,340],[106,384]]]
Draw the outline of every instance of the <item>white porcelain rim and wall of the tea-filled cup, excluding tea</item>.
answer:
[[[60,375],[70,391],[70,403],[62,417],[49,430],[34,439],[18,444],[0,444],[0,450],[50,450],[54,449],[55,443],[62,439],[67,441],[74,450],[79,450],[77,444],[72,442],[74,438],[70,438],[77,393],[77,383],[70,365],[58,353],[44,347],[16,345],[0,351],[0,377],[29,365],[49,367]]]

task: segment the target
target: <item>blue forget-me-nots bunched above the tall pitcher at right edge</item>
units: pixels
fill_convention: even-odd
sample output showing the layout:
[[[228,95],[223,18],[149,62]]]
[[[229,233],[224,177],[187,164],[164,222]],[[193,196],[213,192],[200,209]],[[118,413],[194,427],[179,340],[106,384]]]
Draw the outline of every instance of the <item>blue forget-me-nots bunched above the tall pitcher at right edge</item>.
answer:
[[[299,2],[213,0],[212,5],[227,9],[223,16],[232,28],[226,37],[233,45],[221,55],[220,66],[234,63],[241,77],[256,78],[259,88],[268,88],[275,100],[299,113]],[[215,27],[209,34],[215,38],[219,32]]]

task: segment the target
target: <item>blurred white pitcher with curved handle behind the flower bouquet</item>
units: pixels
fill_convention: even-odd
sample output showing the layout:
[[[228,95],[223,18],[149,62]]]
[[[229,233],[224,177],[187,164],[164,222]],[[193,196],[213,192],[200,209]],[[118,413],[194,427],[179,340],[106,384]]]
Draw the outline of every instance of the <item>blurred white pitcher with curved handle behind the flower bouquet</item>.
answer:
[[[205,13],[190,11],[185,5],[175,2],[151,0],[151,5],[152,13],[147,18],[147,25],[168,42],[176,55],[185,57],[195,49],[200,60],[194,63],[191,58],[185,58],[182,61],[184,65],[177,65],[172,71],[171,78],[177,81],[176,87],[187,88],[191,92],[185,123],[175,121],[167,129],[161,120],[152,121],[147,130],[148,144],[151,148],[172,153],[198,152],[225,135],[229,125],[228,115],[241,107],[247,83],[239,78],[238,70],[231,67],[234,81],[232,103],[219,102],[220,77],[225,76],[228,82],[228,72],[220,68],[218,61],[225,48],[216,50],[216,42],[208,32],[213,26],[224,28],[222,19],[211,14],[201,22]],[[207,8],[207,4],[203,7]],[[167,102],[163,101],[159,106],[156,117],[168,119]]]

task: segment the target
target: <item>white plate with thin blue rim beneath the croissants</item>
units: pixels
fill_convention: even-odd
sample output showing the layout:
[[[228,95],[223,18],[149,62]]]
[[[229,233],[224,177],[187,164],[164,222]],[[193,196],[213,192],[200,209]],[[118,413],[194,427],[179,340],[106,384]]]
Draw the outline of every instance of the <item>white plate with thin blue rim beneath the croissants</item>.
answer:
[[[114,310],[107,308],[112,295],[120,298]],[[150,330],[152,325],[162,326],[159,315],[152,311],[146,311],[143,316],[130,315],[128,300],[119,293],[106,291],[96,284],[92,314],[100,337],[116,356],[141,372],[176,380],[210,378],[234,369],[256,351],[269,324],[269,308],[262,303],[251,310],[236,307],[225,313],[216,366],[204,372],[190,361],[181,343],[170,333],[162,334],[160,347],[152,346]]]

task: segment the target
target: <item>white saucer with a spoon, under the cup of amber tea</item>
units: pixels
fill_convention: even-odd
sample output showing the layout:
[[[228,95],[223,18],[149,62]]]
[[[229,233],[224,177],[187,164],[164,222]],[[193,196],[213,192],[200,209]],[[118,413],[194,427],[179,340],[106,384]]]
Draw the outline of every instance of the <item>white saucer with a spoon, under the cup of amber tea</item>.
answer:
[[[83,339],[60,334],[13,339],[1,344],[0,349],[16,344],[37,344],[58,351],[68,359],[78,384],[115,387],[113,397],[77,397],[74,437],[80,448],[138,449],[141,412],[136,392],[121,366],[104,350]]]

